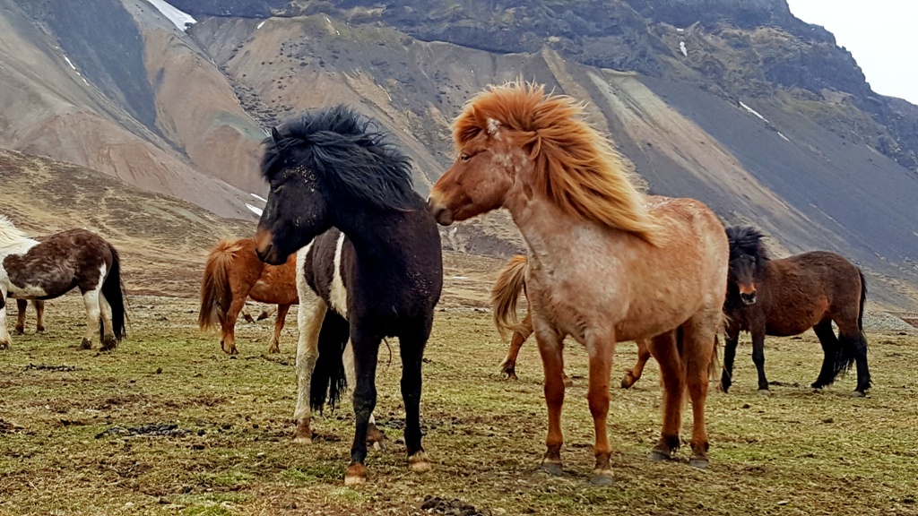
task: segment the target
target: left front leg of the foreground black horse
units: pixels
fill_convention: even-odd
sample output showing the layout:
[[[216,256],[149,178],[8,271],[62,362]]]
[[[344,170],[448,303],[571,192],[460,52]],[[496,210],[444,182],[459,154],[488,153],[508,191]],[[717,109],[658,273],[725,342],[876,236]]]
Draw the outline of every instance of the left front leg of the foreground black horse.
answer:
[[[379,361],[379,343],[383,340],[382,335],[355,325],[356,323],[352,322],[351,342],[354,373],[357,376],[357,384],[353,389],[355,429],[351,445],[351,464],[344,471],[345,486],[366,482],[366,434],[369,430],[370,416],[376,407],[376,365]],[[406,414],[408,413],[406,406]],[[407,430],[406,428],[406,432]]]

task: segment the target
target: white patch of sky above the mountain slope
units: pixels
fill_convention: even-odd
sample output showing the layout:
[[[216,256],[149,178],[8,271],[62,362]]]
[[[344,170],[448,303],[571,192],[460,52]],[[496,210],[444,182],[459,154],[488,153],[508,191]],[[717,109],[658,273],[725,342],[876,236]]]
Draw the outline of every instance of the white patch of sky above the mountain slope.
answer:
[[[788,0],[855,57],[873,91],[918,105],[918,0]]]

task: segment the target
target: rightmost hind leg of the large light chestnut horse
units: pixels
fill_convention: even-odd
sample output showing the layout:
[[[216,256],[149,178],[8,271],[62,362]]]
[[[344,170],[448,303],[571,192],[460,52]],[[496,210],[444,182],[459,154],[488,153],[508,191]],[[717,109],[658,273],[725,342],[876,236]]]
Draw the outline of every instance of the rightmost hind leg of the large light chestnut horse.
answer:
[[[686,370],[686,387],[691,398],[693,419],[689,466],[700,469],[709,465],[704,410],[711,377],[711,358],[717,342],[716,324],[720,318],[720,313],[700,314],[683,325],[682,363]]]

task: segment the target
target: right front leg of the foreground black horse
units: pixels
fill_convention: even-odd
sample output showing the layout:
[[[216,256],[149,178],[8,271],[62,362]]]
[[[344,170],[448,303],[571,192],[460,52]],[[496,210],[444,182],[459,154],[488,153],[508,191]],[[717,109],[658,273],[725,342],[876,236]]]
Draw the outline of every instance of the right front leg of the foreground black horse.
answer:
[[[398,337],[402,358],[401,392],[405,403],[405,446],[412,471],[430,471],[431,464],[420,444],[421,362],[431,335],[432,320],[422,320]]]

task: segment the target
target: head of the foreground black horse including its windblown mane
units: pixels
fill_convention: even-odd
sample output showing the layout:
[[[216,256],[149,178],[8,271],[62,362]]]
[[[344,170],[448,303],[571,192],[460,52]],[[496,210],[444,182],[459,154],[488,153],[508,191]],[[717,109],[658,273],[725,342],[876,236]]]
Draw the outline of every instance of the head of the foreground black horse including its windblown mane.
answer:
[[[255,252],[284,264],[330,227],[345,230],[367,209],[420,208],[406,156],[376,123],[344,106],[309,111],[271,129],[262,175],[271,185],[255,234]]]

